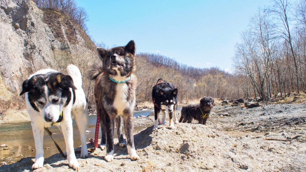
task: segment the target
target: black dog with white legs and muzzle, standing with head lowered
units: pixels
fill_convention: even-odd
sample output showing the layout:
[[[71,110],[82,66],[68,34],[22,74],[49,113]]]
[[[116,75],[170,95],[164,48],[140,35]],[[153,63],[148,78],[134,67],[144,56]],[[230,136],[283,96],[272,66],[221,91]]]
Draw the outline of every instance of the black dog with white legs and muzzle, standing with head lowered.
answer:
[[[178,123],[176,116],[177,109],[177,88],[170,82],[159,79],[152,90],[154,103],[155,123],[153,131],[157,130],[159,124],[159,112],[162,113],[162,124],[165,124],[166,112],[169,114],[169,129],[174,129],[174,123]]]

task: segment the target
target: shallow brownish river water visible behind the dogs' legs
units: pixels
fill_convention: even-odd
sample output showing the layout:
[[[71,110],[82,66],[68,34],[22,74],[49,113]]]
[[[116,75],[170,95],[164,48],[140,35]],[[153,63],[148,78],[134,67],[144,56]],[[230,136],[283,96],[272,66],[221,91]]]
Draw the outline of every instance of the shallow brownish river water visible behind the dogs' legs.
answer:
[[[147,116],[152,111],[150,110],[142,110],[134,112],[134,116],[137,117],[139,115]],[[97,121],[97,115],[88,116],[88,131],[87,141],[89,138],[95,137],[95,125]],[[51,126],[50,131],[52,133],[56,133],[52,135],[53,139],[57,142],[57,144],[61,147],[63,151],[65,151],[65,140],[63,134],[59,131],[57,126]],[[117,133],[115,133],[115,137],[117,137]],[[99,131],[99,139],[101,139],[101,129]],[[3,123],[0,124],[0,145],[6,144],[9,146],[9,150],[1,150],[0,158],[7,157],[15,157],[19,155],[24,156],[33,156],[35,157],[35,142],[32,133],[31,122],[13,122],[13,123]],[[77,148],[81,145],[80,141],[80,132],[77,128],[76,122],[73,120],[73,144],[74,148]],[[31,148],[30,148],[31,147]],[[58,152],[58,149],[55,147],[50,136],[45,132],[43,138],[43,148],[44,149],[44,157],[50,157]]]

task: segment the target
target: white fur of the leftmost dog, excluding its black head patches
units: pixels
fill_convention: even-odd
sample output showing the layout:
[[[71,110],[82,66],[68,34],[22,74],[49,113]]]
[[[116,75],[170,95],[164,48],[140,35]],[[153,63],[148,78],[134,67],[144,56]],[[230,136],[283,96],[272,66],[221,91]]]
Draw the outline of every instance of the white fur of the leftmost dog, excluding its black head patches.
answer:
[[[28,93],[25,94],[25,101],[26,101],[26,107],[28,110],[28,113],[31,117],[31,125],[32,125],[32,131],[34,135],[35,140],[35,148],[36,148],[36,156],[35,156],[35,163],[32,166],[32,169],[37,169],[43,167],[43,133],[44,133],[44,127],[50,127],[52,122],[46,122],[44,120],[44,115],[47,113],[54,114],[54,117],[57,117],[55,121],[58,120],[58,116],[61,111],[63,111],[64,118],[60,124],[56,124],[59,129],[63,132],[65,144],[66,144],[66,153],[67,153],[67,159],[69,166],[72,167],[74,170],[79,170],[79,163],[76,160],[75,154],[74,154],[74,148],[73,148],[73,128],[72,128],[72,114],[75,117],[76,123],[78,125],[78,128],[80,130],[81,135],[81,158],[88,157],[88,151],[87,151],[87,144],[86,144],[86,129],[87,129],[87,122],[88,122],[88,115],[87,115],[87,102],[85,98],[84,91],[82,89],[82,78],[80,75],[79,69],[74,65],[69,65],[67,67],[69,75],[72,77],[74,81],[74,85],[76,86],[77,90],[75,90],[76,93],[76,101],[74,105],[73,103],[73,97],[71,97],[71,101],[66,107],[58,107],[55,105],[51,105],[50,101],[52,100],[52,97],[46,97],[47,104],[44,106],[44,108],[37,112],[33,109],[31,106],[29,99],[28,99]],[[43,69],[40,70],[33,75],[29,77],[33,77],[37,74],[45,74],[48,72],[57,72],[53,69]],[[72,89],[70,88],[71,95]],[[47,92],[47,91],[46,91]],[[47,95],[47,94],[46,94]]]

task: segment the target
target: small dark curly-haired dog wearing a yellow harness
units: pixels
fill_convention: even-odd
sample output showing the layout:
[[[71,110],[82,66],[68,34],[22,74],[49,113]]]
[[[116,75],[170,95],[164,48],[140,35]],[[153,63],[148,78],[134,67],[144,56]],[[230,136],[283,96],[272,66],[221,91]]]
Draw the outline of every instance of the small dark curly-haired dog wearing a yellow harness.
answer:
[[[215,105],[215,100],[211,97],[203,97],[200,104],[192,104],[183,106],[181,110],[181,118],[179,122],[191,123],[192,119],[199,121],[199,124],[206,125],[210,111]]]

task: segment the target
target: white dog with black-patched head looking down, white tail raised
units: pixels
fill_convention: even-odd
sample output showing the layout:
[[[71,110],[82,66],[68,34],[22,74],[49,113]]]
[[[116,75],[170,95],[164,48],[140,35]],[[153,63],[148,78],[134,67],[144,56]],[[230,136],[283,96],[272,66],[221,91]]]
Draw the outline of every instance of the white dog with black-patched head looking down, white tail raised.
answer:
[[[72,115],[81,135],[81,158],[88,157],[86,145],[87,101],[82,89],[80,70],[75,65],[67,67],[68,75],[53,69],[43,69],[22,84],[20,95],[25,95],[26,106],[31,117],[36,156],[32,169],[43,167],[44,127],[57,125],[66,143],[69,166],[79,169],[73,148]]]

